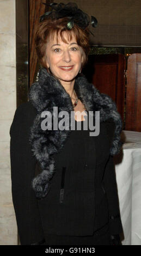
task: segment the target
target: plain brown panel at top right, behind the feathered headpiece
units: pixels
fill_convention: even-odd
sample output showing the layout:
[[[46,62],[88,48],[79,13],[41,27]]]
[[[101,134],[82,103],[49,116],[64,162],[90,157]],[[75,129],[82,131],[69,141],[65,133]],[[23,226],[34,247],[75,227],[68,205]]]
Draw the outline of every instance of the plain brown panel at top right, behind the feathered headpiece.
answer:
[[[56,3],[75,2],[78,8],[96,17],[98,26],[89,27],[95,37],[90,40],[96,46],[141,45],[140,0],[56,0]]]

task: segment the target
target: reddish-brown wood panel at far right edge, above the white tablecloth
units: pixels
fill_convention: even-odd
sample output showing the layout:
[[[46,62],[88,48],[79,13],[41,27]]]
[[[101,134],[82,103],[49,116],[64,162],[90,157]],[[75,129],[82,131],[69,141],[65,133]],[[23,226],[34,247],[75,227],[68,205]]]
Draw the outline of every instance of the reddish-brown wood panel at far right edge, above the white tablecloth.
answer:
[[[141,53],[133,53],[127,62],[125,130],[141,132]]]

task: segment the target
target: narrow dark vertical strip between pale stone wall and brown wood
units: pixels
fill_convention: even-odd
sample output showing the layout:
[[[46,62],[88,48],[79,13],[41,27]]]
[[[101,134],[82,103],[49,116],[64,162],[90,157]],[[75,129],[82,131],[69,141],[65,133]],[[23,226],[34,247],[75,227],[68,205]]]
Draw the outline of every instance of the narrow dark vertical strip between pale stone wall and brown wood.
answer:
[[[28,101],[28,0],[16,0],[16,104]]]

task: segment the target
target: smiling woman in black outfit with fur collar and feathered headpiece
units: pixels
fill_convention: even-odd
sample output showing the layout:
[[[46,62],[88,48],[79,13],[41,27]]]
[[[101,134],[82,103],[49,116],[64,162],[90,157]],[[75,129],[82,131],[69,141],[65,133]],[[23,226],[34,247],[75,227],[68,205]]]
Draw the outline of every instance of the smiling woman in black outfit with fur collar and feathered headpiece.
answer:
[[[89,51],[87,14],[76,4],[55,5],[35,35],[43,66],[39,79],[30,87],[29,101],[16,109],[10,127],[20,241],[22,245],[120,245],[113,155],[120,151],[122,121],[111,97],[80,74]],[[68,125],[61,111],[68,113]],[[94,118],[95,111],[100,113],[96,136],[85,129],[90,111]],[[46,115],[51,117],[48,122]],[[72,130],[71,120],[82,129]],[[54,127],[56,121],[59,125]]]

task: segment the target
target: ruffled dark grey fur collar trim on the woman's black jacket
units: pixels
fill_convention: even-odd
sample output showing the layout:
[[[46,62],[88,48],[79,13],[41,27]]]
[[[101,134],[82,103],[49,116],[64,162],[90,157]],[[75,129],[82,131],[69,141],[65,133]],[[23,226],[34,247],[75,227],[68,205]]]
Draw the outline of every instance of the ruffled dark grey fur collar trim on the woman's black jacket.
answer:
[[[100,111],[100,122],[112,118],[115,123],[115,132],[110,154],[118,154],[121,148],[120,133],[122,131],[122,120],[117,111],[115,102],[106,94],[102,94],[87,79],[77,76],[75,80],[75,92],[85,105],[87,111]],[[34,124],[30,128],[29,142],[32,146],[33,155],[40,163],[42,172],[32,180],[32,187],[37,198],[43,198],[50,190],[50,179],[54,173],[53,154],[58,153],[65,145],[69,137],[69,130],[42,130],[41,112],[50,111],[53,117],[53,107],[58,107],[58,112],[67,111],[70,115],[73,105],[70,95],[66,92],[59,80],[48,74],[45,68],[39,71],[39,81],[32,84],[29,89],[29,100],[36,108],[38,114]],[[59,118],[58,118],[59,120]],[[69,119],[70,120],[70,119]],[[69,123],[69,127],[70,123]]]

